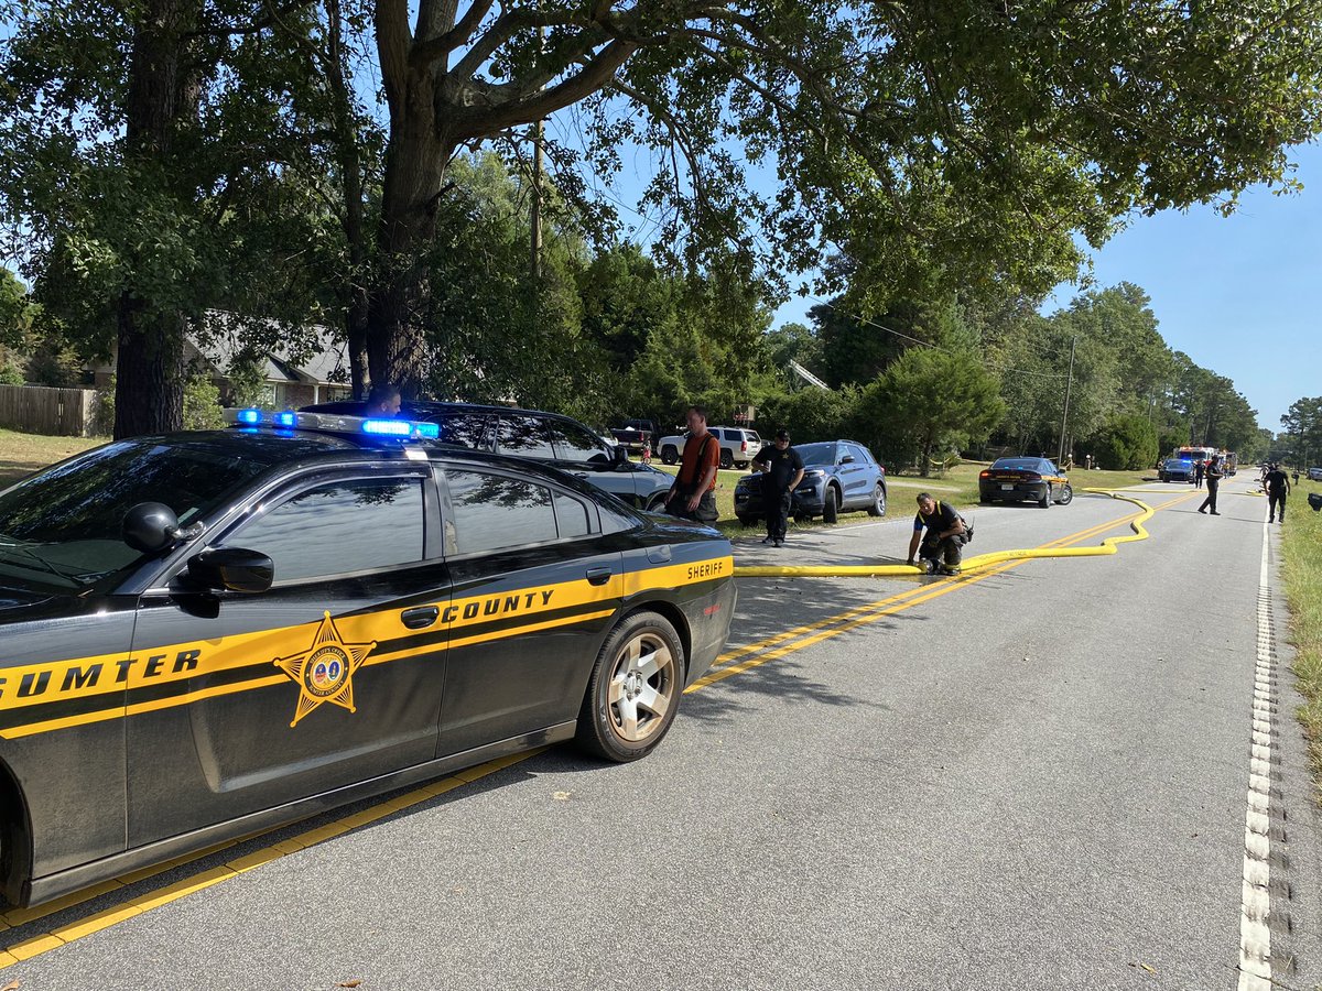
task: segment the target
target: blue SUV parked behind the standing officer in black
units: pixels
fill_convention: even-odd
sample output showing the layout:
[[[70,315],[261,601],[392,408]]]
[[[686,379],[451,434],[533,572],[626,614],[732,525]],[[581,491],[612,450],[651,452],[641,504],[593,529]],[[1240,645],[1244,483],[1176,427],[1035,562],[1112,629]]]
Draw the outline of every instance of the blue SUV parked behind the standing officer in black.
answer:
[[[886,469],[873,452],[853,440],[829,440],[795,447],[804,459],[804,480],[793,492],[795,519],[821,517],[834,523],[841,513],[867,510],[886,515]],[[740,478],[735,486],[735,515],[744,526],[765,518],[761,474]]]

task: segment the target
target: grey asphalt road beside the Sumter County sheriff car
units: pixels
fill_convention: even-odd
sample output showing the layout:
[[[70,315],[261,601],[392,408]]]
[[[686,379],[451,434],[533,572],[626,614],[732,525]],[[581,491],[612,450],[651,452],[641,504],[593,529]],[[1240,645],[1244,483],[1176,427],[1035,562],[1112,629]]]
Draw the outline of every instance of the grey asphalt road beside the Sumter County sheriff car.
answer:
[[[1232,988],[1260,562],[1268,539],[1274,585],[1278,539],[1247,488],[1224,485],[1214,518],[1187,486],[1149,486],[1151,539],[1110,558],[953,581],[740,580],[726,662],[649,758],[538,753],[16,963],[0,986]],[[779,551],[750,536],[736,560],[902,559],[910,502],[791,530]],[[972,515],[970,554],[1132,507],[1080,495]],[[1314,988],[1322,830],[1273,595],[1280,677],[1259,679],[1276,708],[1272,976]]]

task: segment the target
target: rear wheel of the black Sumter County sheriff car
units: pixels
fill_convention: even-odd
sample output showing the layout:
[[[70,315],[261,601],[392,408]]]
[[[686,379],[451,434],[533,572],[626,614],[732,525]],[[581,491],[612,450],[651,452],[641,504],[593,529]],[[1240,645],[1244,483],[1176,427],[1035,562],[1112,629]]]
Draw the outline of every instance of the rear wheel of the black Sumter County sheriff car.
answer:
[[[674,723],[685,667],[683,645],[669,620],[652,612],[627,616],[596,655],[579,710],[578,745],[617,764],[646,757]]]

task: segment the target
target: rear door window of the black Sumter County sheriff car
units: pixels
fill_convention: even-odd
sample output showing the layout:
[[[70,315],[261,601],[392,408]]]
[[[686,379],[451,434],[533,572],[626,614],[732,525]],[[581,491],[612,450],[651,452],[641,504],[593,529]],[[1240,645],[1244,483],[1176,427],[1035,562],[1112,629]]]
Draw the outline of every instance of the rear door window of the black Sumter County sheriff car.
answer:
[[[545,485],[485,472],[447,470],[452,518],[446,521],[449,554],[480,554],[555,540],[559,530]]]

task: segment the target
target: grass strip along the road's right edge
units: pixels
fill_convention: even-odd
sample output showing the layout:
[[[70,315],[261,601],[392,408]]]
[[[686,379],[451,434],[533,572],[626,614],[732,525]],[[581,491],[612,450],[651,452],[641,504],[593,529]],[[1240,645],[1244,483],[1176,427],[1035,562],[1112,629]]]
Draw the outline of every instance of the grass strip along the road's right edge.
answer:
[[[1281,577],[1290,608],[1294,674],[1305,698],[1296,715],[1309,741],[1317,789],[1322,782],[1322,513],[1309,506],[1310,492],[1322,492],[1322,485],[1301,478],[1290,490],[1289,515],[1281,525]],[[1322,805],[1322,790],[1314,790],[1314,797]]]

